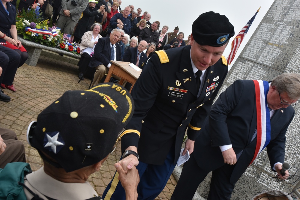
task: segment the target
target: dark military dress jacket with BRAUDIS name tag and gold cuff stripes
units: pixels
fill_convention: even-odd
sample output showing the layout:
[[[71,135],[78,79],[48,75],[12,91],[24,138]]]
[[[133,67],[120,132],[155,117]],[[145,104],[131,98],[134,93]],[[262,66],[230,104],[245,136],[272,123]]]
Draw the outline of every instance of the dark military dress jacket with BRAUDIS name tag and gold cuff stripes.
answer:
[[[127,134],[122,136],[122,152],[134,145],[138,147],[140,161],[162,165],[171,150],[176,163],[187,128],[188,137],[196,139],[199,127],[225,79],[228,66],[220,58],[208,67],[203,89],[197,98],[190,48],[186,46],[165,51],[170,62],[164,64],[156,53],[149,59],[131,92],[135,109],[126,127]],[[219,77],[216,90],[205,92],[216,77]],[[185,79],[190,80],[184,82]],[[137,131],[141,133],[140,137]]]

